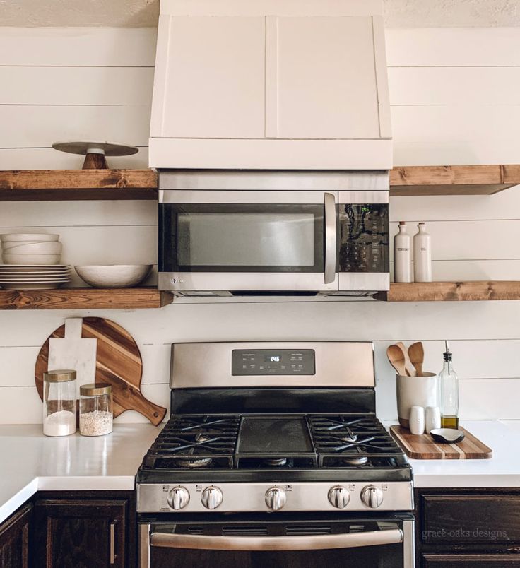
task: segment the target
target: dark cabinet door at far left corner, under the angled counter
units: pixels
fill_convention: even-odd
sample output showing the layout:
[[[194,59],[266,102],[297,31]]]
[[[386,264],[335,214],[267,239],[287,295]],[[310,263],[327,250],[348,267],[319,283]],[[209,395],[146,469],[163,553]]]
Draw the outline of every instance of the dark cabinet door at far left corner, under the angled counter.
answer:
[[[0,525],[0,568],[27,568],[32,505],[18,509]]]

